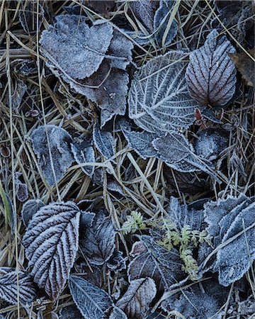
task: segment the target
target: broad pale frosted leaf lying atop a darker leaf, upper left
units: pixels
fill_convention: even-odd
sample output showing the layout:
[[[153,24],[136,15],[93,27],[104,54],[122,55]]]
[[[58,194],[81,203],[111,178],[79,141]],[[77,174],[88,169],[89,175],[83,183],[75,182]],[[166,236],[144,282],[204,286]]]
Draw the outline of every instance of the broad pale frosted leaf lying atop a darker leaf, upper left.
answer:
[[[72,79],[84,79],[101,65],[113,38],[113,27],[101,23],[89,28],[83,16],[60,15],[42,32],[42,53]]]

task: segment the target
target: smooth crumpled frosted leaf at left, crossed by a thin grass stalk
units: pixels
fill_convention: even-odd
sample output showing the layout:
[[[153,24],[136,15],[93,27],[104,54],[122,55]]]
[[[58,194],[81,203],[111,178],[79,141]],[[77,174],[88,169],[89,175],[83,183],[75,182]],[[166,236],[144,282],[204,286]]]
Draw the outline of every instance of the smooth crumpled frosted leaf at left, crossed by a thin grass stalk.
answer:
[[[47,137],[49,139],[49,145],[47,143]],[[74,162],[70,147],[72,137],[63,128],[59,128],[55,125],[46,125],[33,130],[30,138],[45,179],[50,186],[53,186],[55,184],[55,177],[57,182],[60,181],[66,169]],[[49,147],[52,162],[50,160]],[[55,177],[52,169],[54,169]]]

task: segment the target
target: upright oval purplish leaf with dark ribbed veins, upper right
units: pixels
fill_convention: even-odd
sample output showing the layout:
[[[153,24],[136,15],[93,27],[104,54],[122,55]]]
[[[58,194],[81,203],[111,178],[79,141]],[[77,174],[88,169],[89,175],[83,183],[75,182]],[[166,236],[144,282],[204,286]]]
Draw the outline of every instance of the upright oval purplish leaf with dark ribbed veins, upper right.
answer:
[[[202,106],[224,106],[235,91],[236,68],[227,53],[236,52],[224,35],[214,29],[205,44],[190,54],[186,70],[188,91]]]

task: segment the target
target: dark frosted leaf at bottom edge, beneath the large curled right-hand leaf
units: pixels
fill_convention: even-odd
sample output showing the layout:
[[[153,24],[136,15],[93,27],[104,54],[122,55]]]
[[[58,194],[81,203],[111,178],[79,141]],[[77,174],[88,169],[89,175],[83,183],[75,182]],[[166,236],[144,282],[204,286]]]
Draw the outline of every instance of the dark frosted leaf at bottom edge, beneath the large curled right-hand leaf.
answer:
[[[229,291],[217,281],[208,279],[181,291],[167,298],[162,308],[169,312],[176,310],[187,319],[222,318],[224,311],[218,311],[227,302]]]

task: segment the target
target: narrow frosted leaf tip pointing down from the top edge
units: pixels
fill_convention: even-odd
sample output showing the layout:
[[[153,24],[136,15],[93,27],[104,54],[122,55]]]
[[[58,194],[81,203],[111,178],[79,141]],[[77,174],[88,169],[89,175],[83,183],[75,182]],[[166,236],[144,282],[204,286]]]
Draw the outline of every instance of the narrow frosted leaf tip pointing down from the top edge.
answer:
[[[138,0],[130,1],[130,8],[145,27],[152,33],[154,26],[154,13],[157,6],[157,1]]]

